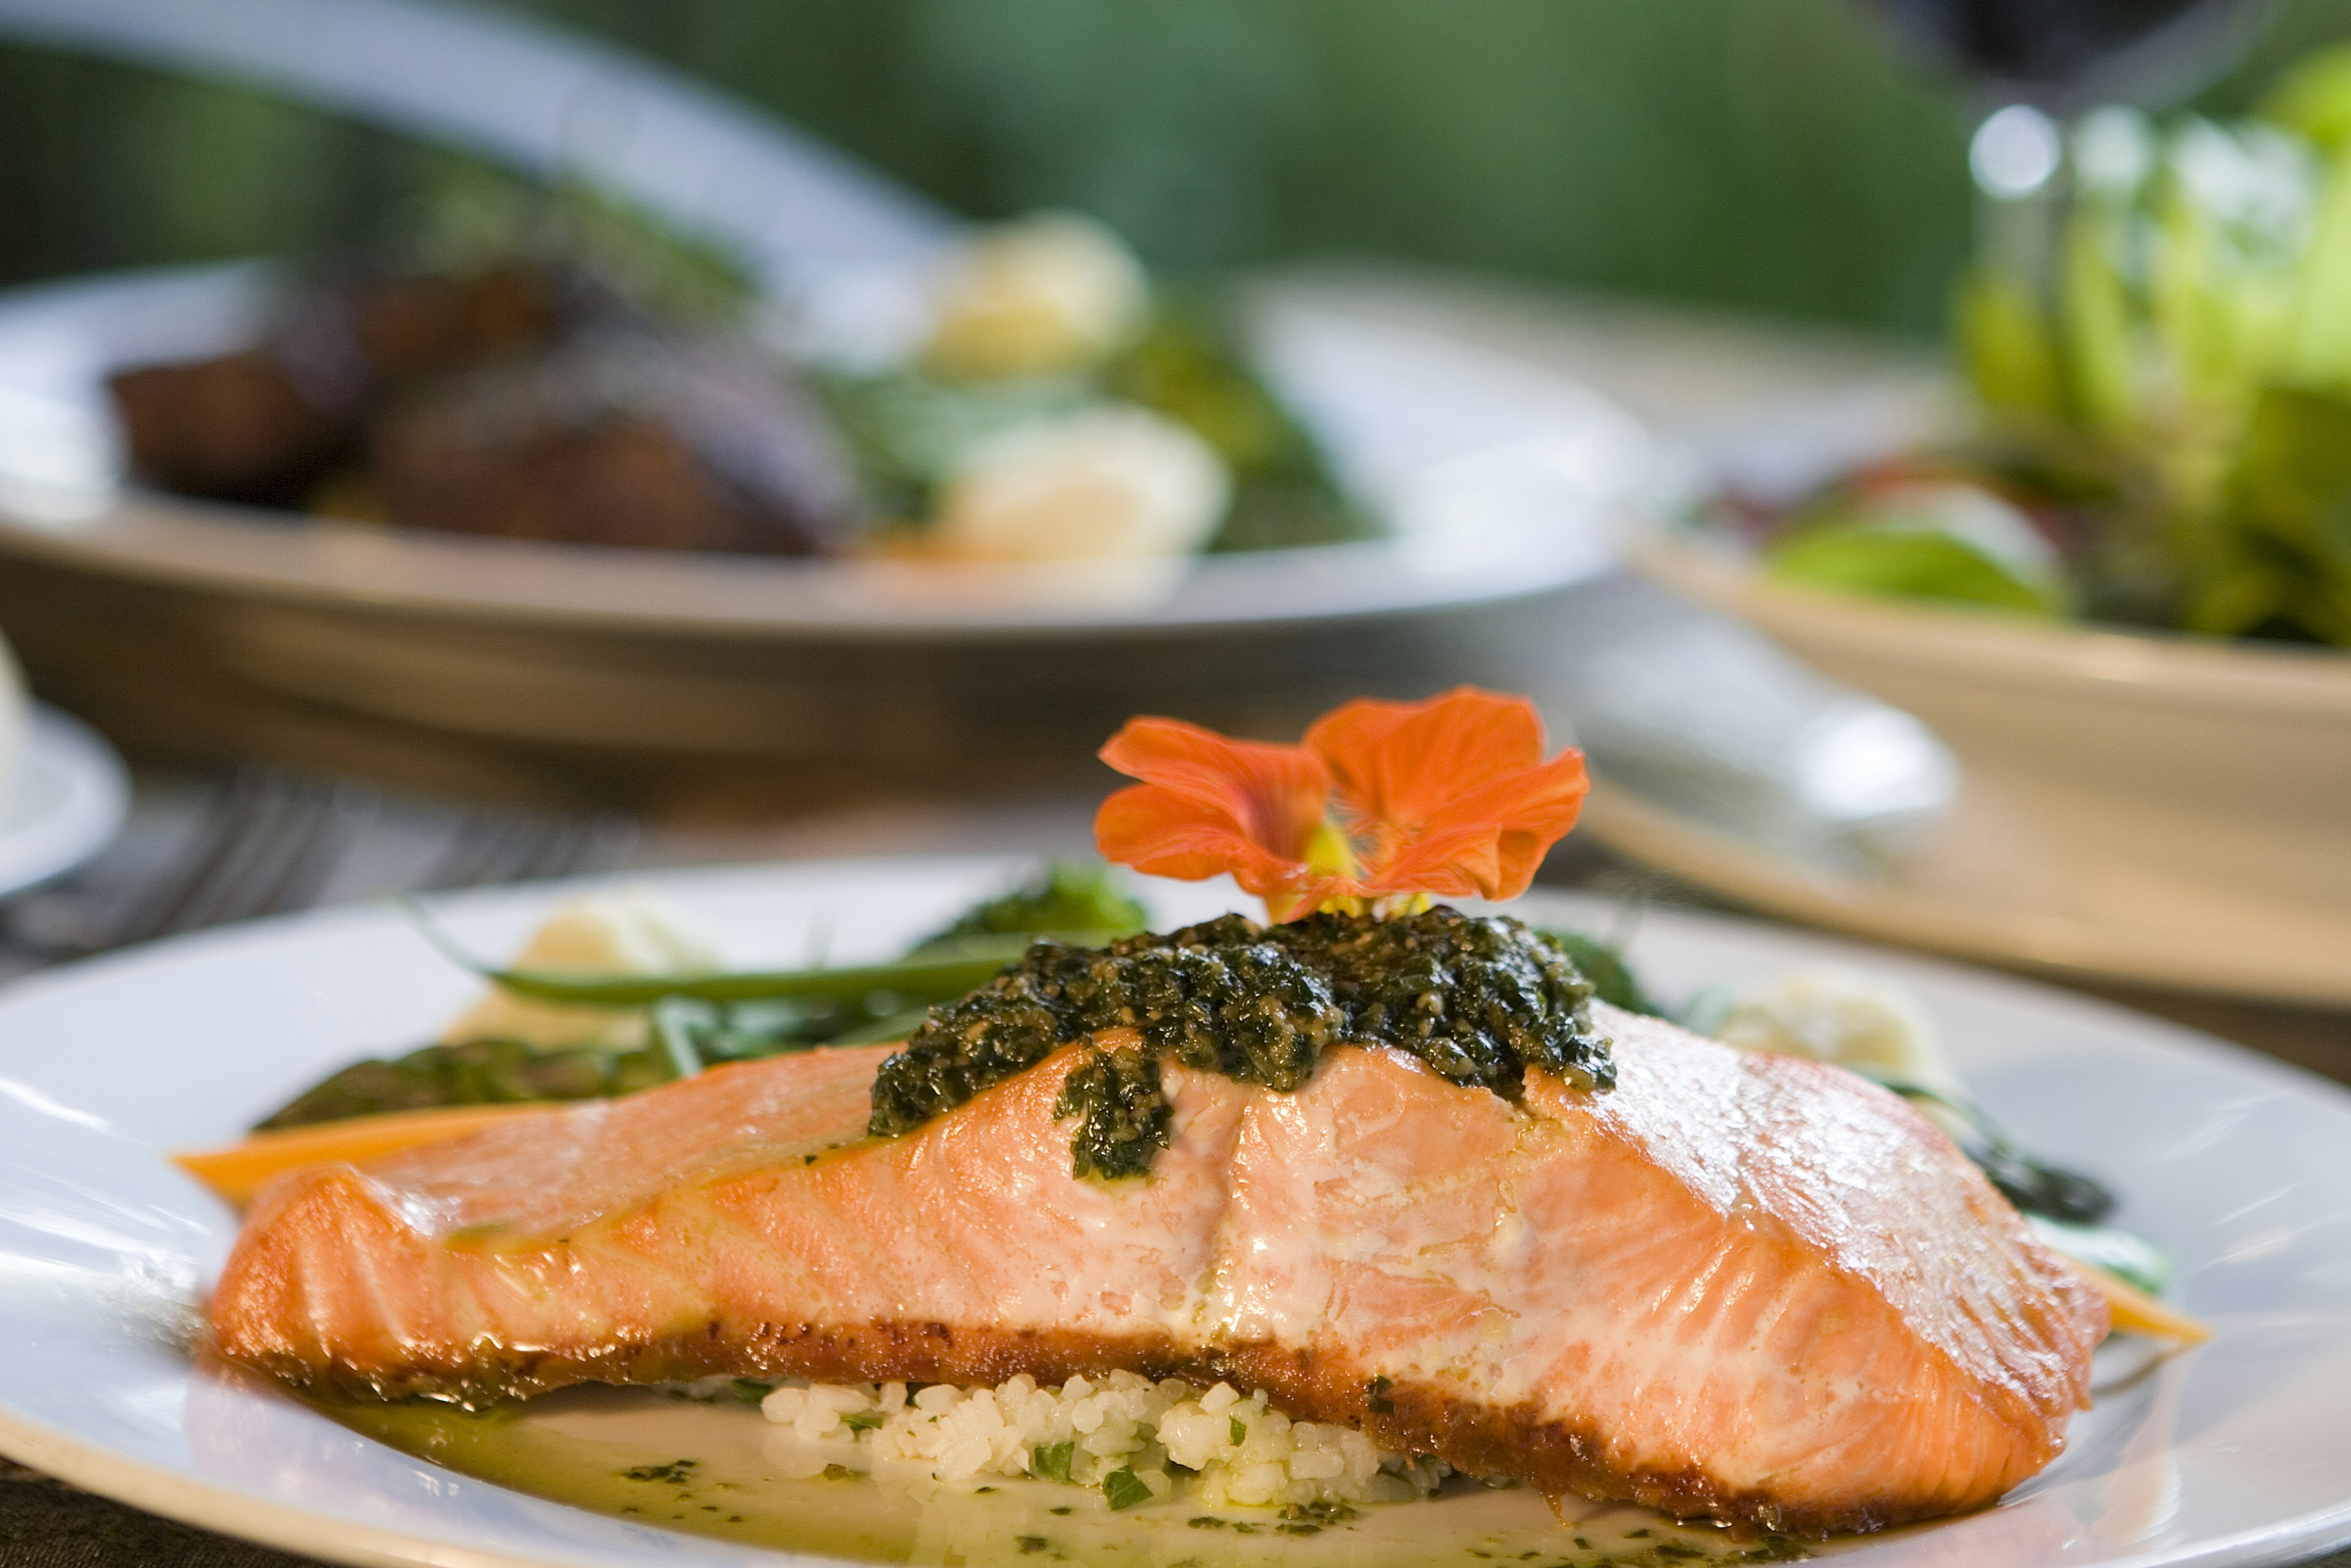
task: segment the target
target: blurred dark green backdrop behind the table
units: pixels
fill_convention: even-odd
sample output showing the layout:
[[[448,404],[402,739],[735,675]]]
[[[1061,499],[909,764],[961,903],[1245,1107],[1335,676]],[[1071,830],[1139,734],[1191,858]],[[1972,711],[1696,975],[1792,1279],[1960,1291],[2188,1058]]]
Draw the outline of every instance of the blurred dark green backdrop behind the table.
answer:
[[[1157,263],[1382,254],[1940,329],[1984,103],[1853,0],[531,0],[971,214]],[[2351,35],[2285,5],[2205,92]],[[219,85],[0,49],[0,282],[397,228],[447,160]]]

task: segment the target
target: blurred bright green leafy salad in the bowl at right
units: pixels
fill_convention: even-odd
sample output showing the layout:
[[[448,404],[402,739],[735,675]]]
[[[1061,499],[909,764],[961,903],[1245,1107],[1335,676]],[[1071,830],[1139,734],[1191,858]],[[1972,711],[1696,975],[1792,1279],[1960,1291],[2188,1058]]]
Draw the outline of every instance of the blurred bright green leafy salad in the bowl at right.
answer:
[[[2351,49],[2257,118],[1977,134],[1961,440],[1721,496],[1780,581],[2351,646]]]

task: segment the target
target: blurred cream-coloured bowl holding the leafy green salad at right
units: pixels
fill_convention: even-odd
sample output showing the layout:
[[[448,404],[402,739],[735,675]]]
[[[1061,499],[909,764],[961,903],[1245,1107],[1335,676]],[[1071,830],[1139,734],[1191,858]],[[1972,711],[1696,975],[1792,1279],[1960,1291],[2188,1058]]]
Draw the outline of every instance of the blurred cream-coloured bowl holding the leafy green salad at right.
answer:
[[[1914,712],[1961,759],[1958,806],[1881,870],[1874,898],[1900,910],[1806,912],[1977,957],[2351,1004],[2351,654],[1808,590],[1667,531],[1632,559]]]

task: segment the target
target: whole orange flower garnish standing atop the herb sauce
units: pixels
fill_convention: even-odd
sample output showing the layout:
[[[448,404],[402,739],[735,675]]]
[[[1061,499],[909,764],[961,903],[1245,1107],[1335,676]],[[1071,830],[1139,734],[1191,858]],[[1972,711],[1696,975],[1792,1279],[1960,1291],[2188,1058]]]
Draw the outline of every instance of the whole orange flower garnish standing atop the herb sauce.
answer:
[[[1140,778],[1103,802],[1105,860],[1199,882],[1232,872],[1274,919],[1516,898],[1585,804],[1585,757],[1542,759],[1533,703],[1460,686],[1357,701],[1305,745],[1128,719],[1103,762]]]

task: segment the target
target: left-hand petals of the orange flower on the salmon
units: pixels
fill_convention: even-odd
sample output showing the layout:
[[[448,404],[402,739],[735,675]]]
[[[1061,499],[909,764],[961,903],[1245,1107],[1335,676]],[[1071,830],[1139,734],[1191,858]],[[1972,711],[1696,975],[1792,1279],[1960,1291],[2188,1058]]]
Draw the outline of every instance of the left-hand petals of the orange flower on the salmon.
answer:
[[[1324,820],[1331,773],[1307,750],[1227,741],[1178,719],[1128,719],[1100,757],[1145,780],[1096,813],[1105,860],[1194,882],[1232,872],[1260,898],[1314,879],[1302,856]]]

